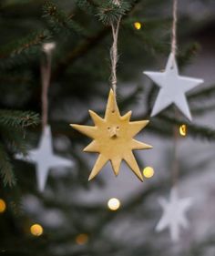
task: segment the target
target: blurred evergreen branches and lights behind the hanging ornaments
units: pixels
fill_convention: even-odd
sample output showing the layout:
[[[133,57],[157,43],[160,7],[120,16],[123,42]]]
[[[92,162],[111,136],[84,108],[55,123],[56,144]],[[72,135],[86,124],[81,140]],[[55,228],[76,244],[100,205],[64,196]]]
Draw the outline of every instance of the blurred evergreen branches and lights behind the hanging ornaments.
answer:
[[[118,9],[101,0],[0,2],[0,255],[215,255],[215,2],[179,0],[180,74],[205,81],[188,94],[192,122],[180,114],[176,118],[172,107],[150,118],[158,87],[142,74],[166,66],[172,1],[121,4]],[[137,138],[153,149],[136,152],[143,183],[124,163],[117,179],[108,163],[88,182],[97,154],[82,152],[90,139],[69,124],[92,125],[88,109],[104,116],[109,21],[122,14],[118,107],[122,114],[132,110],[133,120],[150,120]],[[40,68],[46,42],[56,43],[48,92],[53,147],[73,165],[51,169],[41,193],[36,166],[15,160],[15,154],[36,148],[41,136]],[[155,231],[162,215],[159,197],[169,200],[175,161],[179,198],[193,199],[186,212],[189,228],[180,230],[178,242],[171,241],[168,229]]]

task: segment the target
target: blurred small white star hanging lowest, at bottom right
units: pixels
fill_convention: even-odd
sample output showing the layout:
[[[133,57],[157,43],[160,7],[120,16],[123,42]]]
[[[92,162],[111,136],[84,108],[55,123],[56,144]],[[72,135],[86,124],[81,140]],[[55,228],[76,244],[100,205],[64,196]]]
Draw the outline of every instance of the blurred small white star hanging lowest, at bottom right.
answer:
[[[159,204],[163,209],[163,215],[159,220],[156,231],[159,232],[169,228],[171,240],[179,241],[180,228],[182,227],[185,229],[189,227],[189,222],[185,213],[192,205],[192,200],[190,198],[180,200],[177,189],[172,188],[169,201],[160,198]]]

